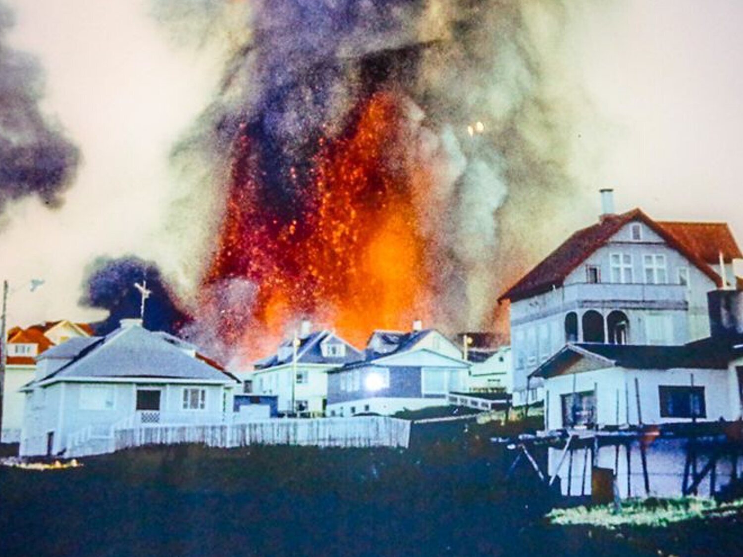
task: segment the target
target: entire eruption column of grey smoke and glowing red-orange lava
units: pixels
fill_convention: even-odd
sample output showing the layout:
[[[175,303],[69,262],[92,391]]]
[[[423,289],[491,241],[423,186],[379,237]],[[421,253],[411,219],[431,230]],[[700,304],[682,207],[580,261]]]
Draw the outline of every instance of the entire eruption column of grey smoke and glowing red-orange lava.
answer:
[[[555,54],[568,4],[153,5],[176,33],[230,45],[221,94],[175,160],[199,158],[213,169],[202,178],[224,199],[227,217],[207,281],[253,281],[259,323],[286,303],[302,313],[332,307],[337,322],[339,307],[353,307],[354,288],[400,263],[388,249],[398,238],[413,246],[406,253],[416,258],[414,278],[424,286],[411,292],[421,295],[432,322],[491,328],[498,294],[551,243],[545,232],[569,218],[568,207],[580,205],[568,163],[581,97]],[[374,120],[382,111],[395,120]],[[374,160],[365,159],[367,148]],[[351,192],[344,190],[349,183]],[[333,205],[339,197],[348,200],[345,213]],[[395,212],[404,216],[387,229],[394,233],[375,241]],[[328,213],[356,220],[328,225]],[[328,231],[340,244],[358,241],[358,249],[327,248],[334,238]],[[380,259],[369,265],[369,280],[357,280],[364,258]],[[402,274],[410,273],[403,267]],[[381,325],[379,316],[364,319],[337,325]]]

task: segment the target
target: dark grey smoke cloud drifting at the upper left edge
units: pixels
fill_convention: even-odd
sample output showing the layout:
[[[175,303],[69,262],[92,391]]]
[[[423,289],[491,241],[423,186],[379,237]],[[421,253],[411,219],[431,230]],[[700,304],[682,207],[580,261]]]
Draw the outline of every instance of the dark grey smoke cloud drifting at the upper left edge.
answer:
[[[59,124],[42,114],[41,68],[33,56],[8,47],[12,26],[10,10],[0,3],[0,209],[27,195],[56,207],[80,152]]]

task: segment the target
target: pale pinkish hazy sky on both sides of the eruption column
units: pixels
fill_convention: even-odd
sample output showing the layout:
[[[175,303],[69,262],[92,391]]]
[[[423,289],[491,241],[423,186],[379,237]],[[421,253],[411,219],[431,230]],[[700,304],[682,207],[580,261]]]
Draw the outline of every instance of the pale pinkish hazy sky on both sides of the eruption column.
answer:
[[[21,289],[10,300],[10,322],[96,318],[77,300],[84,267],[99,255],[152,258],[185,281],[186,263],[172,260],[169,247],[185,241],[172,208],[189,193],[167,154],[210,100],[222,69],[218,56],[169,42],[146,1],[8,4],[17,21],[10,42],[39,57],[47,74],[44,108],[83,158],[62,209],[27,198],[1,218],[2,275]],[[597,117],[574,161],[592,177],[585,195],[613,186],[619,210],[641,206],[658,218],[729,221],[743,241],[743,3],[579,7],[571,10],[564,55]],[[188,224],[199,227],[198,219]],[[22,290],[36,277],[44,287]]]

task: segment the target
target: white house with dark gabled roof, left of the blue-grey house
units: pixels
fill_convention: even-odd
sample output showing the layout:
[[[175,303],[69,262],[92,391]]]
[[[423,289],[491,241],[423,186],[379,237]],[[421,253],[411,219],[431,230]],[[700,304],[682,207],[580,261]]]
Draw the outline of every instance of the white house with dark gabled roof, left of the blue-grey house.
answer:
[[[332,330],[312,331],[303,321],[296,337],[285,339],[275,353],[255,362],[250,374],[254,394],[278,397],[281,413],[325,415],[327,372],[363,359],[363,353]]]

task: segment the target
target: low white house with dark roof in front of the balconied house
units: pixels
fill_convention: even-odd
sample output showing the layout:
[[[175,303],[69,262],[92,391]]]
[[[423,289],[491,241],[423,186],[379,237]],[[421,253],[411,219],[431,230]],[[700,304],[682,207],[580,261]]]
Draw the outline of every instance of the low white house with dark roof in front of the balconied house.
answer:
[[[715,342],[566,345],[539,366],[545,429],[737,420],[734,356]]]

